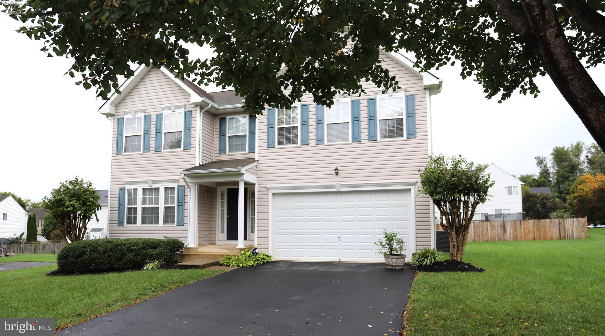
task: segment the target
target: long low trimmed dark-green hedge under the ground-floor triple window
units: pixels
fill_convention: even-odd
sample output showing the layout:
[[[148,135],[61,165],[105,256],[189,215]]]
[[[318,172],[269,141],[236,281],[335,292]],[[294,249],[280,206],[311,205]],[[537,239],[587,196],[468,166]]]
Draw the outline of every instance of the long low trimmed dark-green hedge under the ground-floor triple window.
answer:
[[[141,269],[154,260],[178,262],[184,246],[175,238],[79,240],[61,249],[57,266],[62,272],[74,274]]]

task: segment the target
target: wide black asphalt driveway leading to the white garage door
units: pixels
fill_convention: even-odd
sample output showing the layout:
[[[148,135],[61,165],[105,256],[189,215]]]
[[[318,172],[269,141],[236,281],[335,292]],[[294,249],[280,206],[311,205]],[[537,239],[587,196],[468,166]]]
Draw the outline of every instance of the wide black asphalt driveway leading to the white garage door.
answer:
[[[57,332],[60,335],[399,335],[414,273],[376,263],[240,268]],[[68,333],[68,334],[67,334]]]

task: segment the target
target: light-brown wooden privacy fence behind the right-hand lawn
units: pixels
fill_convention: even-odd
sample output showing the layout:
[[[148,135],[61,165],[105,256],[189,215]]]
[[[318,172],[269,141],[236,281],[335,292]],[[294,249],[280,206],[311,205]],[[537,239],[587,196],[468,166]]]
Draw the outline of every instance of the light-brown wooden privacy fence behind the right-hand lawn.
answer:
[[[436,229],[443,231],[439,224]],[[468,242],[588,238],[586,217],[472,222]]]

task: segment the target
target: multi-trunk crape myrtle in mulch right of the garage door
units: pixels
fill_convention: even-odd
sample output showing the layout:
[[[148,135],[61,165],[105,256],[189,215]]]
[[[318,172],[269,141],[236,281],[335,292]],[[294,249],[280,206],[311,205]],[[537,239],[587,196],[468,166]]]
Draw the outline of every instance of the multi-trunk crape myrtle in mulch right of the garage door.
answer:
[[[431,197],[440,217],[445,217],[441,227],[450,237],[450,261],[462,262],[475,209],[488,199],[494,181],[482,165],[474,165],[462,156],[431,156],[419,173],[422,188],[418,193]]]

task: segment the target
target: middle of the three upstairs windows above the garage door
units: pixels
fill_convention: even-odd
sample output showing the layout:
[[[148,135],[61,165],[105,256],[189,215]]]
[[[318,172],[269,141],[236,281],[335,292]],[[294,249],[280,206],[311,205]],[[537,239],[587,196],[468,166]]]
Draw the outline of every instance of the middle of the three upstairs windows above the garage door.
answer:
[[[325,108],[325,142],[351,141],[351,100],[339,100]]]

